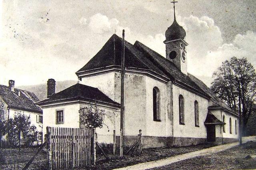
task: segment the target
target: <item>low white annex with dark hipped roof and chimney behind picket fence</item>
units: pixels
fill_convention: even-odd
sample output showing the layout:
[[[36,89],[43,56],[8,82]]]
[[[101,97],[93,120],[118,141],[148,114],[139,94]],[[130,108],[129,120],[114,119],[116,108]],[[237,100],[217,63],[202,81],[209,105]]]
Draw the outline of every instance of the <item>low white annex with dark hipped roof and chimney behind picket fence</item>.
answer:
[[[55,94],[55,80],[49,79],[47,82],[47,99],[37,104],[42,107],[44,114],[44,127],[73,127],[79,128],[80,108],[97,105],[99,109],[104,109],[104,123],[102,129],[96,129],[98,139],[102,142],[111,143],[112,133],[116,129],[116,117],[114,111],[120,109],[120,104],[111,100],[98,88],[93,88],[83,84],[75,84]],[[46,128],[43,129],[46,134]]]

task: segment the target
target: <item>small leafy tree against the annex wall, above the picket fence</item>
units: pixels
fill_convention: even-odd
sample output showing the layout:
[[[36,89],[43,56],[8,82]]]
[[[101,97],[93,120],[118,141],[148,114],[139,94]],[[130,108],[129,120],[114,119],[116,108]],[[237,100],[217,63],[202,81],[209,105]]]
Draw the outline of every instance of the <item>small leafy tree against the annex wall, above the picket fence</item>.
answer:
[[[99,109],[97,105],[86,106],[79,110],[80,125],[86,128],[102,128],[104,124],[105,110]]]

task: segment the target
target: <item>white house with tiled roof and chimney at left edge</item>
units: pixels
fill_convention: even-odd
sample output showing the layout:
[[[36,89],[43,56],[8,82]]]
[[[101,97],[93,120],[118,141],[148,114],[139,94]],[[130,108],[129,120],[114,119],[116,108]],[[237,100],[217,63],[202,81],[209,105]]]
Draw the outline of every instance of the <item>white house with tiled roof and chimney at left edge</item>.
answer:
[[[31,125],[38,131],[38,144],[42,142],[42,109],[35,104],[38,98],[32,92],[14,88],[14,80],[9,80],[9,86],[0,85],[0,118],[7,120],[14,115],[24,113],[30,116]]]

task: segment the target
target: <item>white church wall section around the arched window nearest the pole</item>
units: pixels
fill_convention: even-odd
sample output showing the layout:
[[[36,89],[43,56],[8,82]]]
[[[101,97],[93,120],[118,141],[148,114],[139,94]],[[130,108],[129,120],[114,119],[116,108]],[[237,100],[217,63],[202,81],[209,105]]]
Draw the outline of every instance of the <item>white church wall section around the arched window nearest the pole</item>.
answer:
[[[160,120],[153,120],[153,88],[160,91]],[[166,114],[166,84],[146,76],[146,128],[147,136],[168,137],[172,134],[171,121]]]

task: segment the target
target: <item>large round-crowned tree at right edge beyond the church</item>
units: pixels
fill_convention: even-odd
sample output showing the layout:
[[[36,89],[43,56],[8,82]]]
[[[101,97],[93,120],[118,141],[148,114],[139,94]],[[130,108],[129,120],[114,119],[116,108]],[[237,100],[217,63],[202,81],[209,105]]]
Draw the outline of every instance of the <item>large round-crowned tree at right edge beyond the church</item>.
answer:
[[[242,129],[246,128],[256,101],[256,73],[246,58],[232,57],[213,74],[211,89],[236,113],[241,108]],[[239,105],[239,100],[241,105]]]

